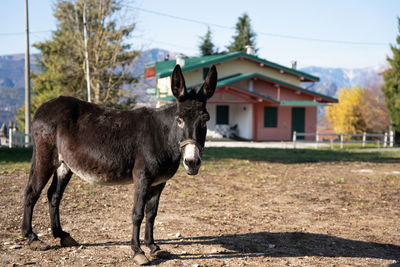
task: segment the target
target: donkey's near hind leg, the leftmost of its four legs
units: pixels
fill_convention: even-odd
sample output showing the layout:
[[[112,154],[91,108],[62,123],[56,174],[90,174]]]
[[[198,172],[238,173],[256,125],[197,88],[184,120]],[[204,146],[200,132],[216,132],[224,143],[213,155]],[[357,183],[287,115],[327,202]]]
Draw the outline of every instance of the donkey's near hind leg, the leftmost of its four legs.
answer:
[[[29,181],[25,188],[22,235],[28,238],[28,245],[32,250],[46,250],[49,246],[40,241],[38,236],[32,231],[32,215],[40,193],[54,172],[54,166],[50,153],[47,153],[47,155],[50,155],[49,157],[38,157],[35,151],[33,153]]]

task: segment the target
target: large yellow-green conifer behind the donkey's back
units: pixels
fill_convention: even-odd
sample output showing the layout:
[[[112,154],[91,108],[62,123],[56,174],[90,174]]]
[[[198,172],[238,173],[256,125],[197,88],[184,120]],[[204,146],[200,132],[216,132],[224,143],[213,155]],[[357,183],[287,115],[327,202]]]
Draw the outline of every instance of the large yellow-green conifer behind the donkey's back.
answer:
[[[57,29],[50,40],[34,44],[41,53],[37,60],[39,71],[32,73],[32,114],[59,95],[87,99],[82,19],[85,5],[92,102],[120,106],[127,92],[122,87],[135,81],[129,69],[137,53],[126,43],[135,25],[122,26],[118,21],[122,1],[57,0]],[[16,115],[22,126],[23,110]]]

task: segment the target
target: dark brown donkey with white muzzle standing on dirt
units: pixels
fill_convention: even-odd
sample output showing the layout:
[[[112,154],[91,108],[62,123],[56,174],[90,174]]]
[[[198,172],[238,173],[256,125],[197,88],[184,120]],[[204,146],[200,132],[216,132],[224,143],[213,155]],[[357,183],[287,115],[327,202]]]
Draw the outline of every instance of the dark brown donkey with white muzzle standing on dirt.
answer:
[[[151,258],[161,257],[153,227],[160,194],[177,171],[181,157],[189,175],[201,165],[210,116],[206,102],[215,91],[213,65],[196,93],[187,92],[179,65],[172,73],[174,104],[159,109],[114,110],[73,97],[60,96],[43,104],[32,122],[33,156],[25,189],[22,234],[33,250],[49,247],[32,231],[34,206],[50,177],[47,191],[51,230],[61,246],[76,246],[62,230],[59,206],[73,173],[92,183],[132,181],[134,205],[131,248],[137,264],[150,263],[140,247],[140,225],[146,215],[144,244]]]

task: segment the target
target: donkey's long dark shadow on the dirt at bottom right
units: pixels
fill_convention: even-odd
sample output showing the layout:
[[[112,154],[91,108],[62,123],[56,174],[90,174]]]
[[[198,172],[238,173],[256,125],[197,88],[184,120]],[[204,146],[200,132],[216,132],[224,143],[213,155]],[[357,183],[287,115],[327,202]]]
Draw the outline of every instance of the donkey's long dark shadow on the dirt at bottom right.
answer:
[[[199,254],[170,254],[152,264],[171,259],[223,259],[243,257],[352,257],[395,260],[400,266],[400,246],[345,239],[324,234],[301,232],[259,232],[238,235],[200,236],[156,240],[160,245],[205,245],[223,247],[222,251]],[[83,246],[129,245],[129,242],[82,244]]]

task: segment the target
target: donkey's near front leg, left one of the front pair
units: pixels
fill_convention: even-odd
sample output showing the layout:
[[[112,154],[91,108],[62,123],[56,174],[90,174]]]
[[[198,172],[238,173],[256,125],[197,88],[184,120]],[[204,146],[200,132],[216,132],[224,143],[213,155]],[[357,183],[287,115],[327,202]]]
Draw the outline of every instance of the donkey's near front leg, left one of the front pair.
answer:
[[[135,166],[136,167],[136,166]],[[136,168],[135,168],[136,169]],[[144,175],[144,171],[134,169],[134,205],[132,210],[133,233],[131,247],[134,252],[133,259],[139,265],[149,264],[150,261],[144,255],[143,250],[140,248],[140,225],[144,218],[144,207],[146,204],[146,197],[150,189],[149,179]]]

